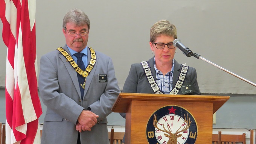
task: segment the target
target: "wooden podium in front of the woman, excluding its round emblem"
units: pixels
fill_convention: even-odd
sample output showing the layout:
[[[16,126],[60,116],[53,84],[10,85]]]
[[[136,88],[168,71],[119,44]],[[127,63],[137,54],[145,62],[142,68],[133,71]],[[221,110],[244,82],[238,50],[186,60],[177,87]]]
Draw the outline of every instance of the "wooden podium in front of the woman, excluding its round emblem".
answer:
[[[125,144],[147,144],[146,126],[152,113],[164,106],[187,109],[197,123],[195,144],[212,144],[212,115],[229,96],[120,93],[113,112],[125,112]]]

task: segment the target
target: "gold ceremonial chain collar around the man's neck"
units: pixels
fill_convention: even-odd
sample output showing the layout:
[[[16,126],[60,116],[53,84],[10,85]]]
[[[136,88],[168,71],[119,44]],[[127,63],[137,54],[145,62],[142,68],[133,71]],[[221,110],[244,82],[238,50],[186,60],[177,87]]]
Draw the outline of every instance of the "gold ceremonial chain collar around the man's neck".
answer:
[[[91,61],[90,63],[87,65],[87,67],[85,68],[85,71],[83,71],[81,68],[78,67],[78,65],[76,64],[76,62],[74,61],[74,59],[72,58],[72,56],[69,55],[69,53],[66,52],[66,50],[62,49],[62,47],[57,48],[57,50],[59,52],[61,52],[61,54],[63,56],[65,56],[65,58],[70,62],[70,64],[72,65],[72,67],[75,69],[75,71],[77,73],[79,73],[82,77],[85,77],[85,82],[86,82],[86,77],[90,74],[91,70],[94,67],[94,64],[96,62],[96,54],[95,51],[89,47],[90,49],[90,53],[91,53]],[[85,82],[82,85],[82,88],[85,88]]]

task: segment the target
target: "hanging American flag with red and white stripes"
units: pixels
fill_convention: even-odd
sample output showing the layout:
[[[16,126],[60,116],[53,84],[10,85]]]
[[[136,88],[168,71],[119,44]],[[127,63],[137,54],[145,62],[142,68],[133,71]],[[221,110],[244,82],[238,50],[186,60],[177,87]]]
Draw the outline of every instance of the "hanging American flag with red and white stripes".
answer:
[[[6,57],[6,144],[40,144],[35,0],[0,0]]]

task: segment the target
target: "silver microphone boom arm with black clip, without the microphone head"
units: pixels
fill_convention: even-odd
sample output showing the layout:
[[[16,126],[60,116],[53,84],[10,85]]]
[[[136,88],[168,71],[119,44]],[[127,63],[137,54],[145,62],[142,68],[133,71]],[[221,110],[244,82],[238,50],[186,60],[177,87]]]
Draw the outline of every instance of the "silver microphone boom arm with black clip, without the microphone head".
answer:
[[[192,51],[191,51],[191,52],[192,52]],[[184,52],[183,52],[183,53],[184,53]],[[184,55],[186,55],[186,53],[184,53]],[[186,55],[186,56],[188,56],[188,55]],[[214,64],[213,62],[208,61],[207,59],[201,57],[201,56],[198,55],[197,53],[193,53],[192,56],[194,56],[194,57],[197,58],[197,59],[201,59],[201,60],[207,62],[208,64],[211,64],[211,65],[215,66],[216,68],[219,68],[219,69],[221,69],[221,70],[223,70],[223,71],[226,71],[227,73],[229,73],[229,74],[231,74],[231,75],[237,77],[238,79],[244,80],[245,82],[250,83],[250,84],[253,85],[253,86],[256,86],[255,83],[253,83],[253,82],[251,82],[251,81],[249,81],[249,80],[247,80],[247,79],[244,79],[243,77],[238,76],[237,74],[232,73],[231,71],[226,70],[225,68],[222,68],[222,67],[220,67],[220,66]],[[188,56],[188,57],[189,57],[189,56]]]

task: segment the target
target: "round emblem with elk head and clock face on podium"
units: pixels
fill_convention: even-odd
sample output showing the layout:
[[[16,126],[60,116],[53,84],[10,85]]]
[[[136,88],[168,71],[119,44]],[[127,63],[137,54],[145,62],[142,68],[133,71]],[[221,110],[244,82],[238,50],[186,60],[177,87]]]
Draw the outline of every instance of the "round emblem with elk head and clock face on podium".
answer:
[[[149,118],[146,136],[149,144],[194,144],[197,122],[185,108],[165,106]]]

